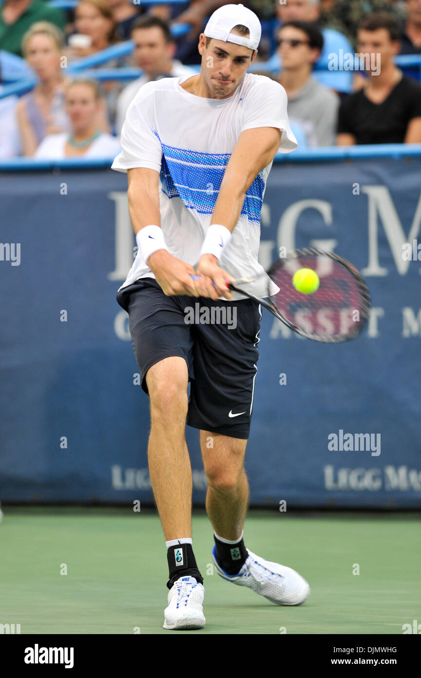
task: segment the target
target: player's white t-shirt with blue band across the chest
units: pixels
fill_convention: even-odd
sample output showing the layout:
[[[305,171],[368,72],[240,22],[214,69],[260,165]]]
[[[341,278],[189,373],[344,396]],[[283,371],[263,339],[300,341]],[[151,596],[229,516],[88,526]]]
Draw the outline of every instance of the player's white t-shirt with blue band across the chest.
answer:
[[[297,143],[288,122],[286,92],[279,83],[247,73],[229,98],[207,99],[186,92],[180,85],[187,79],[164,78],[143,85],[127,111],[120,138],[123,151],[112,169],[127,172],[149,167],[160,172],[160,225],[165,242],[170,254],[195,267],[225,167],[244,129],[278,127],[282,153],[294,151]],[[219,259],[221,268],[236,279],[264,272],[257,256],[261,206],[271,165],[248,188],[240,218]],[[154,274],[137,252],[120,289],[141,277]],[[267,277],[250,283],[248,291],[267,296]],[[233,298],[242,296],[236,293]]]

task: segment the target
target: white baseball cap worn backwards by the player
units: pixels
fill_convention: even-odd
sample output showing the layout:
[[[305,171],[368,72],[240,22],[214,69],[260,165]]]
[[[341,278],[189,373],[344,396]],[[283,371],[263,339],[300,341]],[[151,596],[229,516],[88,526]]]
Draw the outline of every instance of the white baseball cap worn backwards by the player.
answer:
[[[234,26],[246,26],[249,37],[231,33]],[[262,34],[262,27],[256,14],[244,5],[223,5],[216,9],[208,20],[204,31],[207,38],[215,38],[224,42],[236,43],[249,49],[257,49]]]

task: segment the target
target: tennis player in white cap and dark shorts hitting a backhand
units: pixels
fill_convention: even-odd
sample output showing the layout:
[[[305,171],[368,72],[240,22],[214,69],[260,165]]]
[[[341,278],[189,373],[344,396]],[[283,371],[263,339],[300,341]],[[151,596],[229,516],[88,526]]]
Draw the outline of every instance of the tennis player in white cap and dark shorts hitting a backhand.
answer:
[[[139,248],[117,300],[129,313],[150,397],[148,464],[169,565],[164,629],[205,624],[186,422],[200,429],[217,573],[279,605],[300,605],[310,591],[297,572],[255,555],[243,540],[243,462],[261,313],[254,300],[229,292],[226,281],[264,273],[257,255],[267,176],[275,153],[297,146],[282,85],[247,73],[260,38],[250,9],[217,9],[200,35],[200,73],[143,85],[112,164],[128,175]],[[250,291],[267,296],[264,275]],[[192,323],[187,309],[195,304],[202,321]],[[227,306],[230,315],[223,313]],[[221,321],[234,311],[236,323]]]

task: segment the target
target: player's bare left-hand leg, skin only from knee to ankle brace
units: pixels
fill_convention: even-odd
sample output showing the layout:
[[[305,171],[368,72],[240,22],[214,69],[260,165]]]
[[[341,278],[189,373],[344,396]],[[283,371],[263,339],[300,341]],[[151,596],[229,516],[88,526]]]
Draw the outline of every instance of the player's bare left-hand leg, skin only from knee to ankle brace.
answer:
[[[181,357],[164,358],[146,374],[151,430],[148,463],[165,539],[192,536],[192,467],[185,443],[188,372]]]

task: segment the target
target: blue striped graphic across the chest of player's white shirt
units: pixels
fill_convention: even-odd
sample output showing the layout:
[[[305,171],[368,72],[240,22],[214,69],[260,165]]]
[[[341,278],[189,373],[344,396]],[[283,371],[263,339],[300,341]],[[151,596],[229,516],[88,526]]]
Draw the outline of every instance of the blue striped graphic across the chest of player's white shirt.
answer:
[[[159,139],[159,136],[154,132]],[[212,214],[217,201],[229,153],[203,153],[191,148],[162,146],[160,180],[162,192],[171,198],[179,197],[185,207],[198,214]],[[249,222],[260,224],[265,181],[259,172],[252,182],[242,205],[241,214]]]

